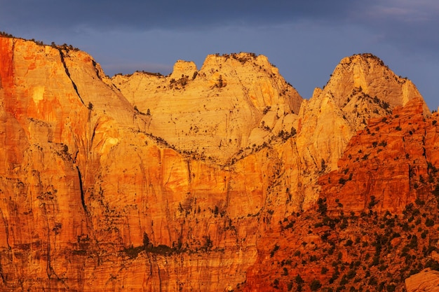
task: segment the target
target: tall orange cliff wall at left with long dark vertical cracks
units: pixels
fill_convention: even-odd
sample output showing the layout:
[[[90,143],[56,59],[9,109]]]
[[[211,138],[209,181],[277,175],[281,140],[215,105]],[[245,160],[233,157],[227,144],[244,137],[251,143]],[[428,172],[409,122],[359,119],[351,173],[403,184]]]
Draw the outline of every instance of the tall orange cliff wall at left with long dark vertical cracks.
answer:
[[[191,160],[140,130],[147,117],[86,53],[0,41],[2,288],[222,291],[245,281],[268,183],[263,151],[233,171]]]

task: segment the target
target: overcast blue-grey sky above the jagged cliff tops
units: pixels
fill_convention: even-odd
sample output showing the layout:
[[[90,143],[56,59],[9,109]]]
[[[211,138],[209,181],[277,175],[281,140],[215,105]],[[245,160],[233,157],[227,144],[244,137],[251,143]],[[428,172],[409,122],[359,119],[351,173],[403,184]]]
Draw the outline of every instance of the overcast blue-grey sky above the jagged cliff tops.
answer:
[[[439,106],[438,0],[0,0],[0,31],[71,44],[109,76],[262,54],[306,99],[343,57],[373,53]]]

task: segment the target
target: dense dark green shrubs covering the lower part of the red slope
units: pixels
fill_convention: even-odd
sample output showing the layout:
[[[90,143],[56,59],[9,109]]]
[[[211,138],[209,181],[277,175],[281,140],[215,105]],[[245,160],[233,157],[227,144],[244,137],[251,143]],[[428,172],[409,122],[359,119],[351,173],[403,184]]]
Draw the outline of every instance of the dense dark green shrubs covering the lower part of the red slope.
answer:
[[[378,144],[377,144],[378,146]],[[404,280],[426,267],[439,270],[439,262],[431,258],[439,239],[439,183],[437,169],[428,165],[435,183],[429,197],[417,198],[405,209],[393,214],[390,210],[379,213],[377,197],[370,196],[360,214],[337,208],[337,214],[328,211],[327,200],[320,197],[316,207],[302,214],[292,214],[282,224],[295,222],[294,230],[283,228],[288,240],[302,238],[302,244],[290,256],[276,253],[283,244],[278,242],[270,253],[271,265],[278,264],[278,288],[288,291],[402,291]],[[349,169],[345,174],[349,173]],[[429,180],[429,181],[431,181]],[[419,179],[421,182],[421,179]],[[424,183],[428,183],[424,179]],[[335,206],[339,203],[335,199]],[[318,240],[306,239],[315,238]],[[284,258],[279,258],[281,255]],[[288,263],[288,268],[285,266]],[[330,263],[330,265],[327,265]],[[292,267],[290,269],[290,266]],[[394,267],[400,267],[395,270]],[[320,273],[315,274],[316,267]],[[296,271],[296,272],[293,272]],[[297,274],[303,271],[306,277]]]

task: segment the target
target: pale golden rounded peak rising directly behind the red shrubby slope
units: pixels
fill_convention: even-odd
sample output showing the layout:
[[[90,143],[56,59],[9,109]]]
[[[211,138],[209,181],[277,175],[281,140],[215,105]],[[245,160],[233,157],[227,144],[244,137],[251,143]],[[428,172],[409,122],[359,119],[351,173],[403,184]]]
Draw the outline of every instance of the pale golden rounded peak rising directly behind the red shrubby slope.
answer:
[[[363,54],[344,58],[327,85],[316,88],[313,97],[302,103],[293,123],[297,135],[291,144],[281,146],[281,153],[294,154],[291,163],[283,160],[290,164],[283,171],[283,179],[289,179],[281,183],[284,188],[278,193],[288,189],[292,197],[299,198],[294,211],[309,209],[320,191],[318,177],[338,168],[351,137],[366,127],[367,120],[386,116],[396,106],[419,97],[410,81],[393,74],[377,57]],[[421,104],[427,116],[428,108]]]

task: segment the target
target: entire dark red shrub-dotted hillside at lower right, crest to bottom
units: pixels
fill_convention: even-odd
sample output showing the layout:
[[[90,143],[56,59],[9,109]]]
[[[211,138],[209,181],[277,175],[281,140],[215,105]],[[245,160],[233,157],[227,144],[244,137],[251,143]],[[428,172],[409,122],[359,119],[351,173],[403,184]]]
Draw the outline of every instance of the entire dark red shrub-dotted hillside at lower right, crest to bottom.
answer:
[[[439,269],[439,116],[423,111],[413,99],[370,120],[339,168],[318,179],[315,207],[264,232],[239,291],[436,287],[428,284],[434,272],[410,277]]]

